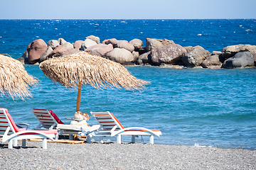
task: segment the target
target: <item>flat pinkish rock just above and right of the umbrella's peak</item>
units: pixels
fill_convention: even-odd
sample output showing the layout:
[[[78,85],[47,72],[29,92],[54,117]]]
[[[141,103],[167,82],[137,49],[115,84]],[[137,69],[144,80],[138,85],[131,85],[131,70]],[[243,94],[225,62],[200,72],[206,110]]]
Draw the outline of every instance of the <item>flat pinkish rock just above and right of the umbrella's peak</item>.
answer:
[[[88,52],[91,55],[97,55],[100,57],[104,57],[107,52],[110,52],[113,50],[113,45],[112,44],[97,44],[97,45],[92,45],[85,49],[85,52]]]

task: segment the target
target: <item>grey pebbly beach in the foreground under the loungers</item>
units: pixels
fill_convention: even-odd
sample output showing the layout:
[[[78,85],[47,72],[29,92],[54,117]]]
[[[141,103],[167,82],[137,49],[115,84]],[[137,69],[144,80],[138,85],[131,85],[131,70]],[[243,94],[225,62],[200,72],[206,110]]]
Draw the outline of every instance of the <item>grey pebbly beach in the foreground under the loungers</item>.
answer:
[[[63,144],[27,142],[26,148],[0,144],[0,169],[256,169],[256,150],[183,145]]]

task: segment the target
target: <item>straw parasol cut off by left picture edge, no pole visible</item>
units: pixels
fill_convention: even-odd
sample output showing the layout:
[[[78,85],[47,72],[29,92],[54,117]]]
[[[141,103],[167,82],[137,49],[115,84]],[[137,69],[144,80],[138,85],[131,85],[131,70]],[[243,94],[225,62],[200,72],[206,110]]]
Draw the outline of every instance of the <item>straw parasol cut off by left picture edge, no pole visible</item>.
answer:
[[[18,60],[0,55],[0,95],[11,98],[31,97],[29,86],[37,84],[38,80],[26,72],[23,64]]]

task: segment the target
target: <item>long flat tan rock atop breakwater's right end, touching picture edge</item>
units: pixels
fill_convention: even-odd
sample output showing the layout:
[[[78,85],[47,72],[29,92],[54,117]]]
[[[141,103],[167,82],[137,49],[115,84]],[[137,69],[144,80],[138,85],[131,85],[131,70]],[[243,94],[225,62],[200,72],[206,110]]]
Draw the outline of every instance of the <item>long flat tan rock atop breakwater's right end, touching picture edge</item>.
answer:
[[[256,45],[230,45],[223,48],[222,56],[227,59],[233,57],[238,52],[254,52],[256,50]]]

